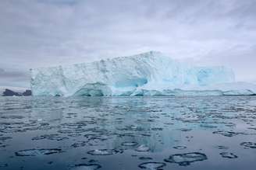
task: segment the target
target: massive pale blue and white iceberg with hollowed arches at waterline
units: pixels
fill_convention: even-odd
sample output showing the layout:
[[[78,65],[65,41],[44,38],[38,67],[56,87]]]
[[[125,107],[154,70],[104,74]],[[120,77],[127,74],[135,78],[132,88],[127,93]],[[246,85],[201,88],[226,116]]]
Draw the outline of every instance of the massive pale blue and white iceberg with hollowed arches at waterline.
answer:
[[[198,67],[150,51],[91,63],[31,69],[33,95],[253,95],[225,67]],[[233,88],[227,88],[233,85]],[[223,90],[224,89],[224,90]]]

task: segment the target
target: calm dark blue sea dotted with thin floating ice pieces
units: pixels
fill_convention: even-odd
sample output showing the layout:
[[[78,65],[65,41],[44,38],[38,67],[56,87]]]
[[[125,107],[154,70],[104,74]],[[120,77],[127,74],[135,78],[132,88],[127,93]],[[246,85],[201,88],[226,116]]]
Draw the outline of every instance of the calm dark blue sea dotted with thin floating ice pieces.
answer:
[[[0,98],[0,169],[256,167],[256,96]]]

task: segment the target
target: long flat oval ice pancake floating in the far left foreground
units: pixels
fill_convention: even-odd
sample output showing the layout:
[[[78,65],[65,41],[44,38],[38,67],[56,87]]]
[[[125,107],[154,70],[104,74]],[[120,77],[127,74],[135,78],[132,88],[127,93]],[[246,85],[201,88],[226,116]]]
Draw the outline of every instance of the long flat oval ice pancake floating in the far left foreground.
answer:
[[[59,154],[62,152],[61,149],[27,149],[22,151],[16,151],[16,156],[37,156],[41,154]]]

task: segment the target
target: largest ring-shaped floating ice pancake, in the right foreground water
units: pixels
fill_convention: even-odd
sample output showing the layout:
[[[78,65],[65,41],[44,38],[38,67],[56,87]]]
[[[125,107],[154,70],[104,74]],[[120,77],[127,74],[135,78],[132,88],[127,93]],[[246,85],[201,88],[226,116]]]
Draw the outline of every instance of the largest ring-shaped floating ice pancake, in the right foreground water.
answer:
[[[167,162],[176,163],[181,166],[190,165],[194,161],[204,161],[207,159],[205,154],[199,152],[191,152],[186,154],[172,154],[169,158],[165,159]]]

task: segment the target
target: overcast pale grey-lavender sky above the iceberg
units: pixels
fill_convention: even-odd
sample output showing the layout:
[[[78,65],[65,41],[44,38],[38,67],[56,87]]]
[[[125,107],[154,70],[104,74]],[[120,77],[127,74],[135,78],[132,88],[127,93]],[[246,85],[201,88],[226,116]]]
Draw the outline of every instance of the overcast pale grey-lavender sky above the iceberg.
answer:
[[[255,9],[254,0],[2,0],[0,86],[30,87],[30,68],[149,50],[256,82]]]

